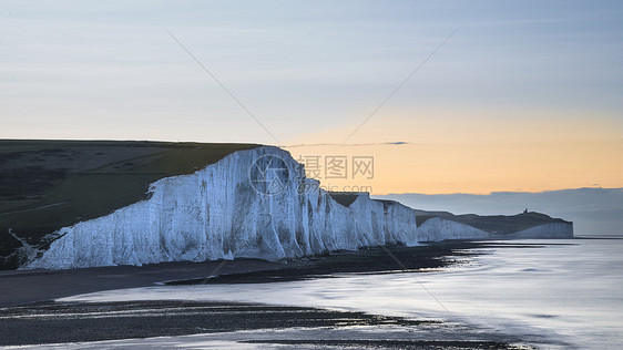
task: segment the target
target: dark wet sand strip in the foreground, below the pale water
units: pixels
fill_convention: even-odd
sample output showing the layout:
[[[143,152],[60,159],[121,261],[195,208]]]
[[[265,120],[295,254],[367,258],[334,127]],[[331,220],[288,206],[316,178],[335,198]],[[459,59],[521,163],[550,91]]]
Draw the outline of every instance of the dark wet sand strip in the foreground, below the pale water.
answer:
[[[153,343],[151,337],[161,337],[154,347],[174,348],[192,343],[178,338],[185,334],[202,334],[203,347],[228,339],[239,347],[259,348],[518,349],[510,344],[518,339],[437,321],[300,307],[170,300],[39,302],[0,309],[0,346],[62,343],[58,348],[100,349],[114,342],[84,342],[134,339],[116,344],[142,349]],[[151,339],[136,340],[141,338]]]

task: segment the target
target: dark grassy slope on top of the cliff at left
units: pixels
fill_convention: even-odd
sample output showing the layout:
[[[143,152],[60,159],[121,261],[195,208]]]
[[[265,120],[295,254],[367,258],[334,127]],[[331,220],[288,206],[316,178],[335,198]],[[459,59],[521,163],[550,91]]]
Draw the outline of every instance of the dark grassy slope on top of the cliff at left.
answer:
[[[38,244],[63,226],[145,198],[157,179],[192,174],[232,152],[256,146],[0,140],[0,257],[20,247],[19,239]]]

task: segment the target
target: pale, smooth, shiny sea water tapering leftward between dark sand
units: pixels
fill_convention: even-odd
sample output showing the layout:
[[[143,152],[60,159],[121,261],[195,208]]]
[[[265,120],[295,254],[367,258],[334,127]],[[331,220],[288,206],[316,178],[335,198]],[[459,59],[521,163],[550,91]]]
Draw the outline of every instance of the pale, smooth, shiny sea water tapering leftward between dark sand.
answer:
[[[467,323],[552,347],[623,347],[623,239],[512,243],[539,246],[486,248],[466,265],[425,274],[150,287],[63,300],[236,300],[329,307]]]

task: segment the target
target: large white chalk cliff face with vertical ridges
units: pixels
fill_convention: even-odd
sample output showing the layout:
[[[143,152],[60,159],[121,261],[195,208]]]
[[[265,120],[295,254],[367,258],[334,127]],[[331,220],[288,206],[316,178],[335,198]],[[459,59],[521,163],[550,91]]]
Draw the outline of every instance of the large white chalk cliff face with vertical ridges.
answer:
[[[258,159],[283,163],[277,173],[257,173]],[[278,260],[364,246],[490,236],[439,217],[418,227],[412,209],[370,199],[367,194],[340,204],[317,181],[298,176],[300,167],[277,147],[235,152],[194,174],[153,183],[149,199],[60,229],[50,248],[31,257],[24,267],[63,269],[238,257]],[[275,184],[278,191],[272,187]],[[541,234],[537,228],[533,233]]]

